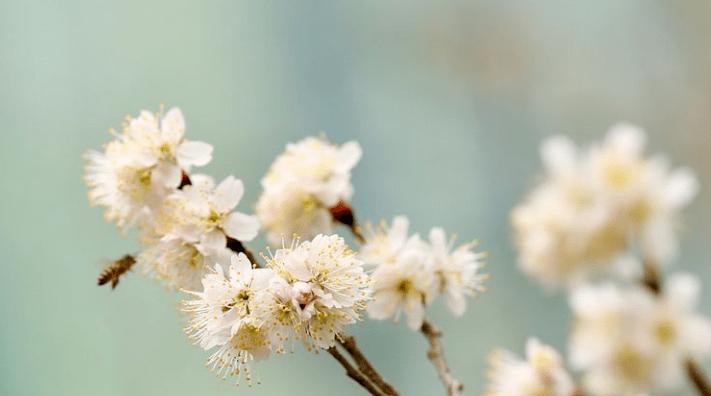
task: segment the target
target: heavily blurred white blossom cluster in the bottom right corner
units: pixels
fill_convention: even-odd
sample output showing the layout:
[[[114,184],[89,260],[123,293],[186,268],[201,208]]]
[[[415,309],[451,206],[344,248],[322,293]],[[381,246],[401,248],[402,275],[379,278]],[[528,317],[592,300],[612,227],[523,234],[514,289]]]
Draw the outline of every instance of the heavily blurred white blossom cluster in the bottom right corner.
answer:
[[[571,296],[571,364],[595,395],[668,390],[687,358],[711,353],[711,321],[696,312],[698,280],[672,276],[662,296],[642,286],[585,286]]]

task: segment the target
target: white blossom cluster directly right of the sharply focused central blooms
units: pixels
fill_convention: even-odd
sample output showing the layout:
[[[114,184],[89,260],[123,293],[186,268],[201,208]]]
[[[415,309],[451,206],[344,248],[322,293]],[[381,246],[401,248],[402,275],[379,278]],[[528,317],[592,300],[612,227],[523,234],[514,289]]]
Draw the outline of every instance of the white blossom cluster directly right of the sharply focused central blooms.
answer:
[[[375,266],[374,301],[368,314],[374,319],[407,315],[407,324],[417,330],[422,326],[425,306],[439,295],[457,316],[464,314],[466,297],[484,290],[486,275],[480,273],[484,254],[475,253],[475,243],[456,249],[454,239],[447,239],[444,230],[432,228],[429,240],[408,235],[409,221],[396,217],[392,226],[381,224],[370,229],[360,255]]]

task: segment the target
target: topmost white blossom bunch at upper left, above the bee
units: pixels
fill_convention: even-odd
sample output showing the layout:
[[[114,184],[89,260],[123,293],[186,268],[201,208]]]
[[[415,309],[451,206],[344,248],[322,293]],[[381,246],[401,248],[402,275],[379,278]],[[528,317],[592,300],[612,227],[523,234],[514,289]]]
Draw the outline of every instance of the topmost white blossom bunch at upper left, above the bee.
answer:
[[[89,202],[105,207],[106,219],[120,228],[144,220],[180,185],[182,171],[211,159],[210,145],[185,140],[184,133],[178,109],[171,109],[163,119],[148,111],[130,118],[123,133],[102,152],[85,155]]]

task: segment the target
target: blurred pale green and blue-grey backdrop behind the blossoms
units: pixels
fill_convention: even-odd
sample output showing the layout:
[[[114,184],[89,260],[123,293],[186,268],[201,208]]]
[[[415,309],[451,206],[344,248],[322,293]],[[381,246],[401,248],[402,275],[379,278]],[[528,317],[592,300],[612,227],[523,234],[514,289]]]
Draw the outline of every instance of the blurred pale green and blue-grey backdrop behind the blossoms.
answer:
[[[488,292],[460,320],[429,311],[468,395],[496,346],[536,335],[565,349],[565,297],[517,271],[508,226],[545,136],[588,143],[627,120],[694,167],[674,266],[711,285],[710,22],[706,1],[0,0],[0,394],[362,394],[301,348],[235,388],[183,335],[179,295],[137,273],[95,285],[137,245],[89,208],[82,153],[160,104],[215,146],[205,172],[244,180],[244,208],[287,142],[323,131],[363,146],[361,220],[406,214],[478,238]],[[711,287],[702,304],[711,314]],[[351,331],[404,395],[441,394],[419,334]]]

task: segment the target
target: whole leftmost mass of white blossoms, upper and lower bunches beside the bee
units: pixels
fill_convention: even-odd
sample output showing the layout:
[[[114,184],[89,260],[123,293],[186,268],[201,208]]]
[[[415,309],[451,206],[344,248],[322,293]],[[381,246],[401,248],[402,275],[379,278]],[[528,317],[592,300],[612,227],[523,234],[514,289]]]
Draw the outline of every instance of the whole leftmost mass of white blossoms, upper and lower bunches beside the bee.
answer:
[[[230,176],[215,187],[209,176],[190,175],[206,165],[212,147],[185,139],[177,108],[164,116],[142,111],[103,152],[86,155],[89,200],[122,228],[138,227],[145,249],[138,265],[169,287],[195,289],[215,263],[229,260],[228,238],[257,235],[254,216],[234,212],[244,187]]]

